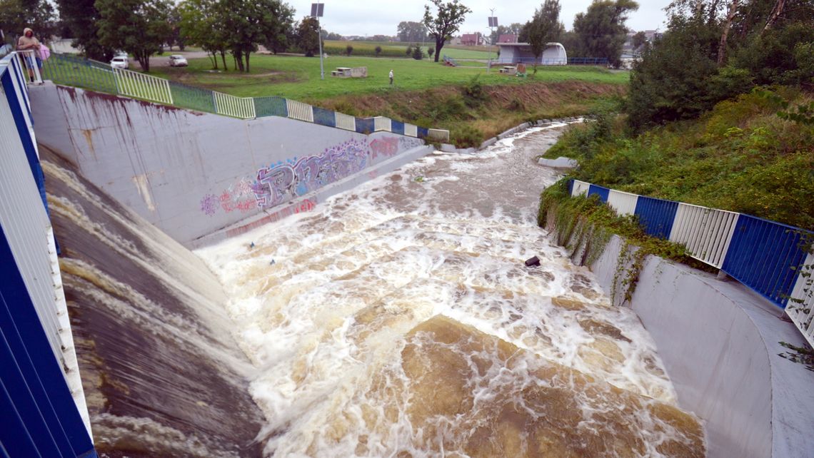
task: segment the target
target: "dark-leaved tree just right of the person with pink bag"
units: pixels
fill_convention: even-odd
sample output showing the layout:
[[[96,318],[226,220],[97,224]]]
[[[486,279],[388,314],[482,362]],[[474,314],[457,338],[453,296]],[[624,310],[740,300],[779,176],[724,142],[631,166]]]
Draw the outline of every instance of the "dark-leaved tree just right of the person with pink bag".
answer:
[[[113,58],[113,49],[102,46],[98,37],[99,12],[96,0],[57,0],[59,17],[77,46],[88,59],[107,62]]]

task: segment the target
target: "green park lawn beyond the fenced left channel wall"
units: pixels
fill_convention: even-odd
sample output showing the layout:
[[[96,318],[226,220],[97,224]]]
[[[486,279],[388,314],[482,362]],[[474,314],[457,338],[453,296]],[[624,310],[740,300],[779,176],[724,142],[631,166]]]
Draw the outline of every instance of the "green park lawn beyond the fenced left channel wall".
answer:
[[[353,46],[356,46],[356,42]],[[230,65],[232,64],[227,60]],[[390,59],[339,57],[325,59],[325,80],[319,77],[319,59],[292,56],[252,55],[250,74],[212,72],[208,59],[190,59],[186,68],[152,68],[151,74],[173,81],[218,90],[240,97],[278,95],[294,100],[316,101],[344,94],[386,94],[392,90],[387,73],[395,74],[395,89],[421,90],[443,85],[457,85],[479,76],[484,85],[523,84],[527,81],[589,81],[625,84],[627,72],[608,72],[591,67],[539,67],[536,76],[527,79],[506,76],[485,67],[447,67],[430,59]],[[336,67],[367,67],[367,78],[335,78]]]

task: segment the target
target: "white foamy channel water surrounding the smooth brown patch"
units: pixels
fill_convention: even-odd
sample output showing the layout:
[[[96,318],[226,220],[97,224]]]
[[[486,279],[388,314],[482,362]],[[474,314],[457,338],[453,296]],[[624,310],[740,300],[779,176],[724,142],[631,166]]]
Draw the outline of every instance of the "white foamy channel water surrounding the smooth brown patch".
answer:
[[[268,419],[269,456],[435,456],[408,413],[414,381],[402,351],[416,342],[410,329],[436,315],[642,399],[676,402],[637,316],[610,307],[593,275],[536,226],[540,191],[558,175],[534,156],[559,129],[528,129],[475,155],[418,159],[313,213],[196,251],[230,295],[237,338],[259,368],[251,390]],[[532,255],[540,267],[524,266]],[[475,407],[554,383],[523,364],[494,364],[467,382]],[[582,405],[593,430],[603,427],[591,420],[597,408],[622,408]],[[632,434],[648,444],[642,456],[661,456],[656,447],[682,433],[646,430],[647,415],[637,411],[641,431]],[[462,434],[460,419],[434,418],[444,437]]]

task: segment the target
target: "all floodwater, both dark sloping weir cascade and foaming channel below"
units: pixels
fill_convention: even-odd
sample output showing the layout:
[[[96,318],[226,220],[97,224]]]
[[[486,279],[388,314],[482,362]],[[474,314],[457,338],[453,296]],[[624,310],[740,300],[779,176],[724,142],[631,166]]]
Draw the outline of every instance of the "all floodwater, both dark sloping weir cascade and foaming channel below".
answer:
[[[536,227],[559,131],[420,159],[208,268],[45,155],[100,453],[704,456],[637,316]]]

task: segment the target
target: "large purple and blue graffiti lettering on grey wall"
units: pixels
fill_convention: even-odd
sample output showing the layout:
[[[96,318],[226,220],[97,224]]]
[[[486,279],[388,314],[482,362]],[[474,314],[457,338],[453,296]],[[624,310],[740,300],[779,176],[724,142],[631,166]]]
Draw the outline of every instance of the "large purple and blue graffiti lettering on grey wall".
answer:
[[[320,155],[260,168],[252,183],[256,205],[274,207],[359,172],[367,165],[368,151],[365,141],[349,140],[326,148]]]

